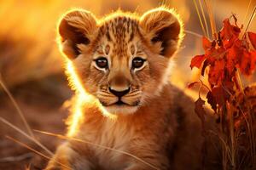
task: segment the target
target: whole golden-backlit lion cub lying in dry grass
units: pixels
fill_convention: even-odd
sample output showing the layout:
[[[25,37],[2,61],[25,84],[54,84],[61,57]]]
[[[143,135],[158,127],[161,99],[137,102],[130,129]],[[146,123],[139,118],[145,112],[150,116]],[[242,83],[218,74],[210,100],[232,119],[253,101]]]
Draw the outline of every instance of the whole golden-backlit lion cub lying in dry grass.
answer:
[[[67,136],[85,142],[61,144],[47,170],[201,168],[204,140],[194,102],[169,82],[183,38],[172,9],[142,16],[118,11],[102,20],[74,10],[58,31],[77,91]]]

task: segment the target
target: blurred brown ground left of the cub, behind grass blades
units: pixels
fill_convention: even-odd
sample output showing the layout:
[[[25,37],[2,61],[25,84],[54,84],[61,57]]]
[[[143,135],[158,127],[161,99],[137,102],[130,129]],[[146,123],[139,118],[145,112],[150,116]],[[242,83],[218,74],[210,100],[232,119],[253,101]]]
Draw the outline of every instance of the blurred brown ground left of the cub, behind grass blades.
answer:
[[[67,118],[67,109],[61,107],[63,102],[70,98],[72,92],[65,85],[67,82],[61,76],[47,77],[40,81],[26,82],[11,90],[12,94],[24,112],[26,120],[32,129],[39,129],[52,133],[65,133],[64,120]],[[0,116],[26,131],[20,116],[10,102],[8,96],[0,91]],[[47,162],[42,156],[34,154],[31,150],[16,144],[5,135],[9,135],[19,141],[29,144],[34,149],[44,152],[36,144],[17,133],[11,127],[0,122],[0,169],[23,170],[42,169]],[[49,150],[54,151],[60,139],[36,133],[38,140]]]

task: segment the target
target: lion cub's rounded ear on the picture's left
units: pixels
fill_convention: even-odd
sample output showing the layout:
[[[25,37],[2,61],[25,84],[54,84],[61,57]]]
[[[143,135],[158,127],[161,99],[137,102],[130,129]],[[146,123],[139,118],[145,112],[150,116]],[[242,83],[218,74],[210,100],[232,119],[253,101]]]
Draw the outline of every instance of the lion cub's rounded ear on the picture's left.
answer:
[[[78,45],[89,46],[96,38],[96,17],[89,11],[74,10],[61,19],[58,26],[61,51],[69,59],[75,59],[80,54]]]

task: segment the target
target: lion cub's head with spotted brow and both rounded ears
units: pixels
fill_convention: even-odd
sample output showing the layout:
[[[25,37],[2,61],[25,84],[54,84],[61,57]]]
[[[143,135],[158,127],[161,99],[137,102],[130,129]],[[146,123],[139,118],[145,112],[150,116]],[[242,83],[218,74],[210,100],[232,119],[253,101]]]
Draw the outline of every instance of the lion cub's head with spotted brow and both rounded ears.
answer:
[[[134,113],[160,92],[180,32],[179,20],[166,8],[142,17],[117,12],[104,20],[72,11],[59,26],[62,51],[82,86],[113,114]]]

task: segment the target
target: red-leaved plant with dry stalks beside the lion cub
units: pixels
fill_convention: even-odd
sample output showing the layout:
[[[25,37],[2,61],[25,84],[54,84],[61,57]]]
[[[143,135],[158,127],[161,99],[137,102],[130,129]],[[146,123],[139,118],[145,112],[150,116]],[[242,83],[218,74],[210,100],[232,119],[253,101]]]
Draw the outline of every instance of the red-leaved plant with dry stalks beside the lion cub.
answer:
[[[190,67],[201,69],[202,81],[192,82],[189,88],[200,83],[207,89],[207,103],[218,116],[218,137],[222,143],[224,169],[256,168],[255,134],[256,86],[243,88],[240,72],[248,77],[256,68],[256,34],[241,33],[235,14],[223,21],[223,28],[211,41],[202,37],[205,54],[196,55]],[[200,91],[201,91],[200,88]],[[195,112],[204,126],[205,101],[195,101]],[[204,128],[204,127],[203,127]]]

